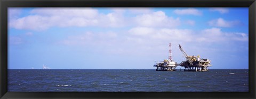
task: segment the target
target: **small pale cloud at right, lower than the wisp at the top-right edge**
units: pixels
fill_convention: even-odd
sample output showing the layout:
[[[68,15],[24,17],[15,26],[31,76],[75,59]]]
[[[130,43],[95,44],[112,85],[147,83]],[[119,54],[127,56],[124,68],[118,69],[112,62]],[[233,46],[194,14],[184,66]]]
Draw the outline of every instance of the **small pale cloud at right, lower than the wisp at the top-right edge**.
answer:
[[[236,25],[240,25],[239,21],[226,21],[222,18],[211,20],[208,22],[210,26],[218,26],[218,27],[232,27]]]

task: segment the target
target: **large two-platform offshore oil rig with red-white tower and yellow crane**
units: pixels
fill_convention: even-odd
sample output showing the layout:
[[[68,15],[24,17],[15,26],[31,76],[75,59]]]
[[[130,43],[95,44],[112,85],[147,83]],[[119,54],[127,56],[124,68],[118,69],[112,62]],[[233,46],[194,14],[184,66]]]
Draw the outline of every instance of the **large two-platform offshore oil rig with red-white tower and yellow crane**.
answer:
[[[156,71],[176,71],[175,68],[177,66],[184,67],[185,69],[183,71],[208,71],[208,67],[212,66],[209,59],[200,58],[199,55],[188,56],[187,53],[181,48],[180,44],[179,49],[183,53],[184,57],[186,57],[186,61],[182,61],[180,64],[173,61],[171,43],[169,43],[169,59],[155,61],[158,62],[156,65],[154,65],[154,67],[156,67]]]

